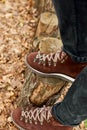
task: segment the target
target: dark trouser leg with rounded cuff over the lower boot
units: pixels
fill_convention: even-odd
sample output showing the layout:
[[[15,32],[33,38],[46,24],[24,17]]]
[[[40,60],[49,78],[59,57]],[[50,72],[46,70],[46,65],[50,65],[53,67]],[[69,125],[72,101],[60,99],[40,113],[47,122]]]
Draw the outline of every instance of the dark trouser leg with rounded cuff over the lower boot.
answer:
[[[72,84],[64,100],[53,106],[52,112],[64,125],[78,125],[87,118],[87,67]]]

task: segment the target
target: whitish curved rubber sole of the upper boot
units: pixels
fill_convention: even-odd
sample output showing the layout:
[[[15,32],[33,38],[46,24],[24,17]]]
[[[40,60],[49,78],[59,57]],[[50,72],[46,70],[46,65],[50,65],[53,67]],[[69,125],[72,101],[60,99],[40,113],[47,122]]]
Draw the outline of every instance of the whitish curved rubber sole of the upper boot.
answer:
[[[27,56],[25,56],[25,64],[27,65],[27,67],[32,70],[32,72],[34,72],[35,74],[38,74],[42,77],[56,77],[56,78],[60,78],[60,79],[63,79],[65,81],[68,81],[68,82],[71,82],[73,83],[75,81],[74,78],[68,76],[68,75],[65,75],[65,74],[60,74],[60,73],[43,73],[43,72],[40,72],[34,68],[32,68],[28,62],[27,62]]]

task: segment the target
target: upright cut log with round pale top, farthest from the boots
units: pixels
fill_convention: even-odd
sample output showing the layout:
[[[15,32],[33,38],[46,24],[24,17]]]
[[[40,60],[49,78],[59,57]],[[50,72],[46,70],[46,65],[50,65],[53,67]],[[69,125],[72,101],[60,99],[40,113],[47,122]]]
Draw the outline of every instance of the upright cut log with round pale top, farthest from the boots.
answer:
[[[58,35],[58,19],[54,13],[44,12],[40,15],[36,37],[40,35],[54,37]]]

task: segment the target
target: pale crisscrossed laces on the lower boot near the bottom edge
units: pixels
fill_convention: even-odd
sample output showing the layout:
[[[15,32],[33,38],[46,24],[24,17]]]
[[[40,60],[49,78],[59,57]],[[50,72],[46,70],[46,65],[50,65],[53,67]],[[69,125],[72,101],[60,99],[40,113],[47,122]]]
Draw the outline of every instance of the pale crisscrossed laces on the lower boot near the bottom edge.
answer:
[[[27,107],[25,110],[22,109],[20,120],[24,120],[25,123],[34,122],[37,124],[40,122],[43,125],[44,120],[50,122],[51,115],[51,107],[43,106],[42,108],[30,109]]]

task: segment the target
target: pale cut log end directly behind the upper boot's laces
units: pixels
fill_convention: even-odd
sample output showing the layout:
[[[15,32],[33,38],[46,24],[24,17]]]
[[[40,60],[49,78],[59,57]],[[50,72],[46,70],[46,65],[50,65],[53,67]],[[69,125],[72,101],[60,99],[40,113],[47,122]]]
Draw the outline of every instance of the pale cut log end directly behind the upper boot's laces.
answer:
[[[42,53],[55,53],[61,47],[62,41],[55,37],[39,36],[33,41],[33,51],[40,50]]]

